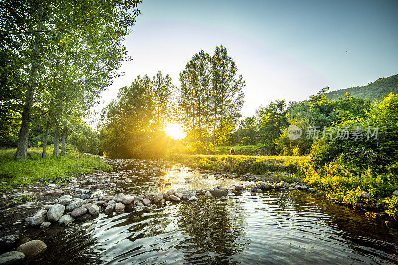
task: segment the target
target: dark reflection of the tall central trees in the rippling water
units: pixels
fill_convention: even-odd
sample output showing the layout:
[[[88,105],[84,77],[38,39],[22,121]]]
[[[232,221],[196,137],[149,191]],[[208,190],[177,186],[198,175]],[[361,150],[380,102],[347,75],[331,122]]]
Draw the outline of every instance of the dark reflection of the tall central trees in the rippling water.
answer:
[[[184,250],[190,263],[234,263],[231,256],[243,251],[239,238],[245,235],[244,213],[231,199],[199,198],[182,204],[178,216],[179,228],[189,237],[175,248]]]

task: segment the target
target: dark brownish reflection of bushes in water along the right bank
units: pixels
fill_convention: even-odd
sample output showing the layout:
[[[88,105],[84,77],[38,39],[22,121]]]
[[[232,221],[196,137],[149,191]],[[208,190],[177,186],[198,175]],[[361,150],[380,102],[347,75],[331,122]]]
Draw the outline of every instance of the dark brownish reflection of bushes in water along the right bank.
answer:
[[[320,228],[327,226],[333,232],[330,238],[340,237],[353,253],[377,256],[384,261],[388,259],[386,253],[398,256],[398,233],[386,228],[382,220],[367,218],[363,213],[336,205],[317,195],[293,191],[290,197],[293,201],[291,206],[297,213],[314,217],[317,213],[322,214],[316,218]],[[393,260],[391,262],[396,263]]]

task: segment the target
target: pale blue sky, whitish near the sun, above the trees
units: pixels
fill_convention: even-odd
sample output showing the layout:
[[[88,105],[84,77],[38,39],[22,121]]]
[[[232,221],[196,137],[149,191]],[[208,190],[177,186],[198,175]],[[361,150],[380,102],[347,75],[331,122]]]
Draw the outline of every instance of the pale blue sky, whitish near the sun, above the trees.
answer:
[[[179,72],[200,50],[227,48],[246,80],[242,116],[276,99],[363,86],[398,74],[398,0],[143,0],[124,44],[133,61],[100,110],[138,75]]]

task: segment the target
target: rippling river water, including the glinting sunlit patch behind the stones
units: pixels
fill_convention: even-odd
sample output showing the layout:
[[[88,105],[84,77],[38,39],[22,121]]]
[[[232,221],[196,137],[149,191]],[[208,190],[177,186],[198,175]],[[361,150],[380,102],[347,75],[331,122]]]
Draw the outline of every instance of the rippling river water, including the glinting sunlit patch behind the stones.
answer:
[[[178,171],[181,170],[181,171]],[[185,183],[191,178],[192,183]],[[167,175],[135,178],[141,192],[208,188],[237,180],[203,179],[174,167]],[[136,190],[135,190],[136,192]],[[123,191],[130,194],[129,189]],[[133,190],[131,189],[131,193]],[[135,193],[137,194],[137,193]],[[88,227],[90,225],[90,227]],[[288,192],[245,192],[155,210],[72,223],[41,235],[47,251],[30,262],[51,264],[397,264],[398,234],[378,220],[325,198]],[[86,230],[86,231],[85,231]]]

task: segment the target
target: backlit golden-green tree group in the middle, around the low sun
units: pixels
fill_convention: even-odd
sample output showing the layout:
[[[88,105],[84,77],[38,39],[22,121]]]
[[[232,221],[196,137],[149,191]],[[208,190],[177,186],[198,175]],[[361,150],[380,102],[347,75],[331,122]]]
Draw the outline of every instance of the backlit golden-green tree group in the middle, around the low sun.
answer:
[[[240,118],[245,86],[227,49],[194,54],[179,81],[176,86],[159,71],[120,88],[102,111],[102,150],[112,157],[160,156],[168,148],[163,129],[169,122],[184,124],[188,142],[227,143]]]

